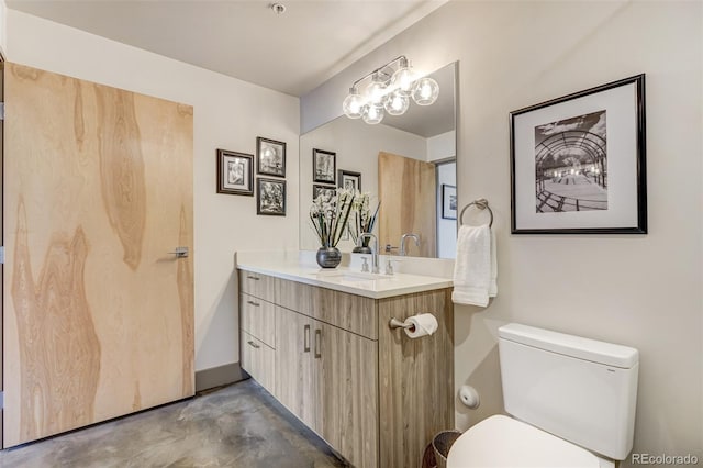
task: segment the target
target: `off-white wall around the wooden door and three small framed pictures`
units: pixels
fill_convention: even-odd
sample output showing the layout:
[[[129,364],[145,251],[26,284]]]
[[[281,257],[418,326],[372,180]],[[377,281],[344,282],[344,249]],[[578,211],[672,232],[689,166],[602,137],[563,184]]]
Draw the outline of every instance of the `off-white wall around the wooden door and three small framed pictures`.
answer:
[[[235,250],[298,248],[299,100],[36,16],[8,10],[8,59],[190,104],[193,120],[196,369],[239,360]],[[288,215],[215,193],[216,148],[288,144]],[[165,246],[165,248],[172,246]]]

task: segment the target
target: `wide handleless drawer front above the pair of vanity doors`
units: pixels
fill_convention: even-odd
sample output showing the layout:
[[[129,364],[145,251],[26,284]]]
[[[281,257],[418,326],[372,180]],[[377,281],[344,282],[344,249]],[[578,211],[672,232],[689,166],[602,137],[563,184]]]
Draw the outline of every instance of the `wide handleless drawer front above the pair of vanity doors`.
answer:
[[[378,339],[376,301],[362,296],[278,280],[278,304],[370,339]]]

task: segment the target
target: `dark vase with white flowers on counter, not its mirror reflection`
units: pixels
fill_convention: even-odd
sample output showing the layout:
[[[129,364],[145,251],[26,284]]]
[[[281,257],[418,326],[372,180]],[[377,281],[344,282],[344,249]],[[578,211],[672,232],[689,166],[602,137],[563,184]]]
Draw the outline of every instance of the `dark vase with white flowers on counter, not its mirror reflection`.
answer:
[[[354,199],[354,190],[323,190],[310,207],[310,221],[321,244],[316,260],[322,268],[335,268],[342,261],[337,244],[349,221]]]

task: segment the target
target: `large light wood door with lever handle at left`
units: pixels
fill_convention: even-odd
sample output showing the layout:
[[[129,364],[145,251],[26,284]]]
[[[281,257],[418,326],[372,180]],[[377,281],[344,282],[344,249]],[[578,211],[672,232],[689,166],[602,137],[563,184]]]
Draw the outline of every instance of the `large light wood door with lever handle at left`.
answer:
[[[3,446],[192,395],[192,108],[4,81]]]

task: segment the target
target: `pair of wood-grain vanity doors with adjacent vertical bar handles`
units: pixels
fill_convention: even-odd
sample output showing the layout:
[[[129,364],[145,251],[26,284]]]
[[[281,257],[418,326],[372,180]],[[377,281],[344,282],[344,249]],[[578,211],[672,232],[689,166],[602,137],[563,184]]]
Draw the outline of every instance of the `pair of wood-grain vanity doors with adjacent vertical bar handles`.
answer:
[[[276,392],[356,467],[378,459],[378,343],[277,308]]]

